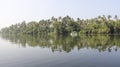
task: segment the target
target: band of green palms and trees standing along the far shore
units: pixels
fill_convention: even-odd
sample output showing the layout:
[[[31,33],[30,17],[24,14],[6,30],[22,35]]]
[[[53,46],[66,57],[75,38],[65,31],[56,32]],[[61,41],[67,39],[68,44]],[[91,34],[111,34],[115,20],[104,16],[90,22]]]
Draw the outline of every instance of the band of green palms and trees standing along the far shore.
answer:
[[[51,19],[40,20],[39,22],[25,21],[2,28],[2,34],[27,34],[27,35],[71,35],[77,36],[78,34],[120,34],[120,19],[115,15],[98,16],[91,19],[76,20],[69,17],[51,17]]]

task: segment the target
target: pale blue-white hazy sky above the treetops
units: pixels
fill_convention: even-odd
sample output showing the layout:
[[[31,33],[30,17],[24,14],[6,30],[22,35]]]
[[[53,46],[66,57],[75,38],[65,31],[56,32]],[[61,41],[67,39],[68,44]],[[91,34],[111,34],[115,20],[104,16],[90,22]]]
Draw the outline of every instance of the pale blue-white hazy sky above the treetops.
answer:
[[[0,0],[0,29],[22,21],[39,21],[52,16],[93,18],[118,15],[120,0]]]

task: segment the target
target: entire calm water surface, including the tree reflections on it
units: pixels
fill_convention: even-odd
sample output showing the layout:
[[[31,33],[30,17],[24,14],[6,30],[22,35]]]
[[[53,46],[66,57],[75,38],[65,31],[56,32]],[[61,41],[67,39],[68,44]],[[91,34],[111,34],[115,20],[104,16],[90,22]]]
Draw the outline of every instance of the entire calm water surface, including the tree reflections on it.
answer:
[[[120,67],[120,36],[0,37],[0,67]]]

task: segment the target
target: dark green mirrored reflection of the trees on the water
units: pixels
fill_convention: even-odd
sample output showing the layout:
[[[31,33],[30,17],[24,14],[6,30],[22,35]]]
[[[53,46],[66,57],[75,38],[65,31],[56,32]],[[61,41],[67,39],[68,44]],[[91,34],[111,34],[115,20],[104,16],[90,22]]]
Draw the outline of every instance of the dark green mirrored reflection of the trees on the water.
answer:
[[[81,35],[71,36],[47,36],[47,35],[1,35],[3,39],[22,47],[41,47],[50,48],[52,52],[65,51],[70,52],[74,48],[91,48],[101,51],[117,51],[120,48],[119,35]]]

